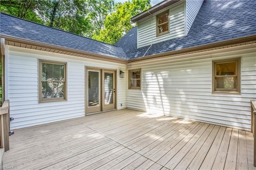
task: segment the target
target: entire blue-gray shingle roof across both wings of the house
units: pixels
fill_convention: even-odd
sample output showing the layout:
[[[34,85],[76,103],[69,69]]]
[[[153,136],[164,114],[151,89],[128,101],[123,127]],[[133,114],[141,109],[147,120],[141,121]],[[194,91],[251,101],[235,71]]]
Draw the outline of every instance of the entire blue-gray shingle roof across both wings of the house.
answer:
[[[137,28],[131,29],[116,45],[77,36],[41,24],[1,13],[0,33],[43,43],[84,50],[117,58],[138,58],[224,40],[256,35],[256,1],[207,1],[199,10],[188,35],[137,49]]]

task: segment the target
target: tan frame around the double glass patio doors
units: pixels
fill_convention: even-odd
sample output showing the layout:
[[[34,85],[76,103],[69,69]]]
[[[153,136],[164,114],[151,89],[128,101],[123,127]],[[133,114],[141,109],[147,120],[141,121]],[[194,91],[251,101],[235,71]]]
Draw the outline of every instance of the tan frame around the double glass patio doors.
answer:
[[[99,112],[90,112],[90,113],[87,113],[87,70],[88,69],[91,69],[91,70],[100,70],[100,87],[101,87],[101,89],[100,89],[100,111]],[[85,116],[86,115],[90,115],[90,114],[95,114],[95,113],[103,113],[103,112],[107,112],[107,111],[109,111],[109,110],[103,110],[103,102],[104,102],[104,98],[103,98],[103,82],[104,82],[104,70],[107,70],[107,71],[114,71],[115,72],[115,100],[114,100],[114,102],[115,102],[115,108],[114,109],[117,109],[117,69],[107,69],[107,68],[103,68],[103,67],[92,67],[92,66],[85,66],[85,84],[84,84],[84,88],[85,88],[85,100],[84,100],[84,103],[85,103]],[[111,110],[110,110],[111,111]]]

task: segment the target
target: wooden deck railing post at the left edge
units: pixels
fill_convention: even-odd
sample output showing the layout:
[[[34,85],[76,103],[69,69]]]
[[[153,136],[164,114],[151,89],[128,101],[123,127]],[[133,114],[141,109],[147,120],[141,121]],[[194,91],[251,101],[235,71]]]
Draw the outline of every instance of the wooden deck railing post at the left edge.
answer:
[[[4,151],[9,150],[9,132],[10,132],[10,107],[9,100],[5,100],[0,107],[0,148]]]

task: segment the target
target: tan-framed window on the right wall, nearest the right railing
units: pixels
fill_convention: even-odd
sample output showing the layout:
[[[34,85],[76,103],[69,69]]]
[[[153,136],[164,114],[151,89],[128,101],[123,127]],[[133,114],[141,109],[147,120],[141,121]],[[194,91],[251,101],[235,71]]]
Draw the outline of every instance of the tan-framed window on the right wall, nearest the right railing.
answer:
[[[213,61],[213,92],[240,93],[240,62],[240,58]]]

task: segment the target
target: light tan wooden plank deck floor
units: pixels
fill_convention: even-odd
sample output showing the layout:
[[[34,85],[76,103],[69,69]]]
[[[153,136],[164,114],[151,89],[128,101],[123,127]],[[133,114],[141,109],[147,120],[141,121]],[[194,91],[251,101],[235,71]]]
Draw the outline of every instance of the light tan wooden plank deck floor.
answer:
[[[7,167],[255,169],[251,132],[131,109],[15,130]]]

